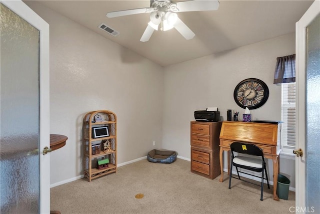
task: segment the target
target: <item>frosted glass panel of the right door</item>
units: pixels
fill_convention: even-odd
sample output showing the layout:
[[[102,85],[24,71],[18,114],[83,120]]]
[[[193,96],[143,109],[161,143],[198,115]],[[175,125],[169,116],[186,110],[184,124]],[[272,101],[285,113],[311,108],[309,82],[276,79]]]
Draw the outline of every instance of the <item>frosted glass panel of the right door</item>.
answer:
[[[306,28],[305,205],[320,213],[320,14]]]

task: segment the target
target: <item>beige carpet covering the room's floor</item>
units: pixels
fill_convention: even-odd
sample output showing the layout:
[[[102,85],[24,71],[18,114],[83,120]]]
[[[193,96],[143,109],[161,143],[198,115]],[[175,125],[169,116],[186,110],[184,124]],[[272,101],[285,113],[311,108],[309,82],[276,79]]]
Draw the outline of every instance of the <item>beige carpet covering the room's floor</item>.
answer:
[[[219,182],[190,172],[190,162],[151,163],[140,160],[91,182],[76,180],[51,188],[51,210],[63,213],[290,213],[288,200],[272,199],[272,186],[232,179]],[[135,198],[142,193],[143,197]]]

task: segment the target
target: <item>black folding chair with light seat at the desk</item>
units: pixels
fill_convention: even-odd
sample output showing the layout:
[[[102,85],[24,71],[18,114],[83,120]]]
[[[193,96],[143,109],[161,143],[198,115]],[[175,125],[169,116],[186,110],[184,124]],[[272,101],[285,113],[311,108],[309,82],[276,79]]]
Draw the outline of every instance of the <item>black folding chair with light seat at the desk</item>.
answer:
[[[265,162],[264,162],[262,150],[259,147],[257,147],[256,145],[248,144],[248,143],[241,143],[241,142],[231,143],[230,149],[231,149],[231,164],[230,164],[229,188],[231,188],[232,166],[235,166],[236,173],[238,174],[238,178],[236,178],[236,177],[233,177],[233,178],[236,178],[236,179],[248,182],[248,183],[252,183],[252,182],[247,181],[247,180],[243,180],[240,178],[238,167],[243,168],[243,169],[247,169],[247,170],[251,170],[251,171],[261,172],[261,177],[260,177],[260,176],[254,175],[254,174],[249,174],[249,173],[245,173],[245,172],[241,171],[241,173],[261,178],[261,185],[260,185],[261,186],[261,197],[260,197],[260,200],[262,200],[263,179],[266,179],[266,183],[268,185],[268,188],[270,188],[268,174],[266,172],[266,167],[265,167]],[[247,154],[247,156],[240,156],[240,155],[234,156],[233,152]],[[265,178],[263,176],[264,172],[265,172]],[[252,184],[257,185],[256,183],[252,183]]]

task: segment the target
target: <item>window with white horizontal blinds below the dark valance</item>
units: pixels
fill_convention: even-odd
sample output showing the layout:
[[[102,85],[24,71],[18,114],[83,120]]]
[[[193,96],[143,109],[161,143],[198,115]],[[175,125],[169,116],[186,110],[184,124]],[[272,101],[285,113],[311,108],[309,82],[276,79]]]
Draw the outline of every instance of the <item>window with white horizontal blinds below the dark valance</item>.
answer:
[[[295,83],[281,84],[282,87],[282,145],[295,147]]]

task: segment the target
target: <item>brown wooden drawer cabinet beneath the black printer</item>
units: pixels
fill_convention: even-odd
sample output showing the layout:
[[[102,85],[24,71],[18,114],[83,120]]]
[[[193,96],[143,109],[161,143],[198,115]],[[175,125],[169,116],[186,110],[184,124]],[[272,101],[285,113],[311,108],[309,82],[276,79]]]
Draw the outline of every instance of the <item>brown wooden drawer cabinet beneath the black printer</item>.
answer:
[[[219,134],[222,122],[190,124],[191,172],[214,179],[220,174]]]

